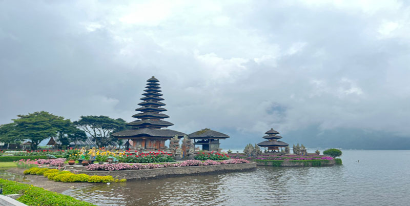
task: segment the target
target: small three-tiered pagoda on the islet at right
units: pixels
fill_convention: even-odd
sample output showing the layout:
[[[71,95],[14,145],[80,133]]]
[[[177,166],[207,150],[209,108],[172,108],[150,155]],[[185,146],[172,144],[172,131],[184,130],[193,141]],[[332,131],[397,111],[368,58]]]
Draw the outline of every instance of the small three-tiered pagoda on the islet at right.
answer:
[[[278,141],[278,139],[282,138],[281,136],[277,135],[279,134],[279,132],[271,128],[271,130],[265,132],[265,134],[267,135],[263,136],[262,138],[268,140],[258,143],[259,147],[264,147],[265,151],[268,153],[276,153],[276,151],[281,152],[279,151],[279,148],[285,148],[284,153],[289,153],[289,144],[283,141]]]

